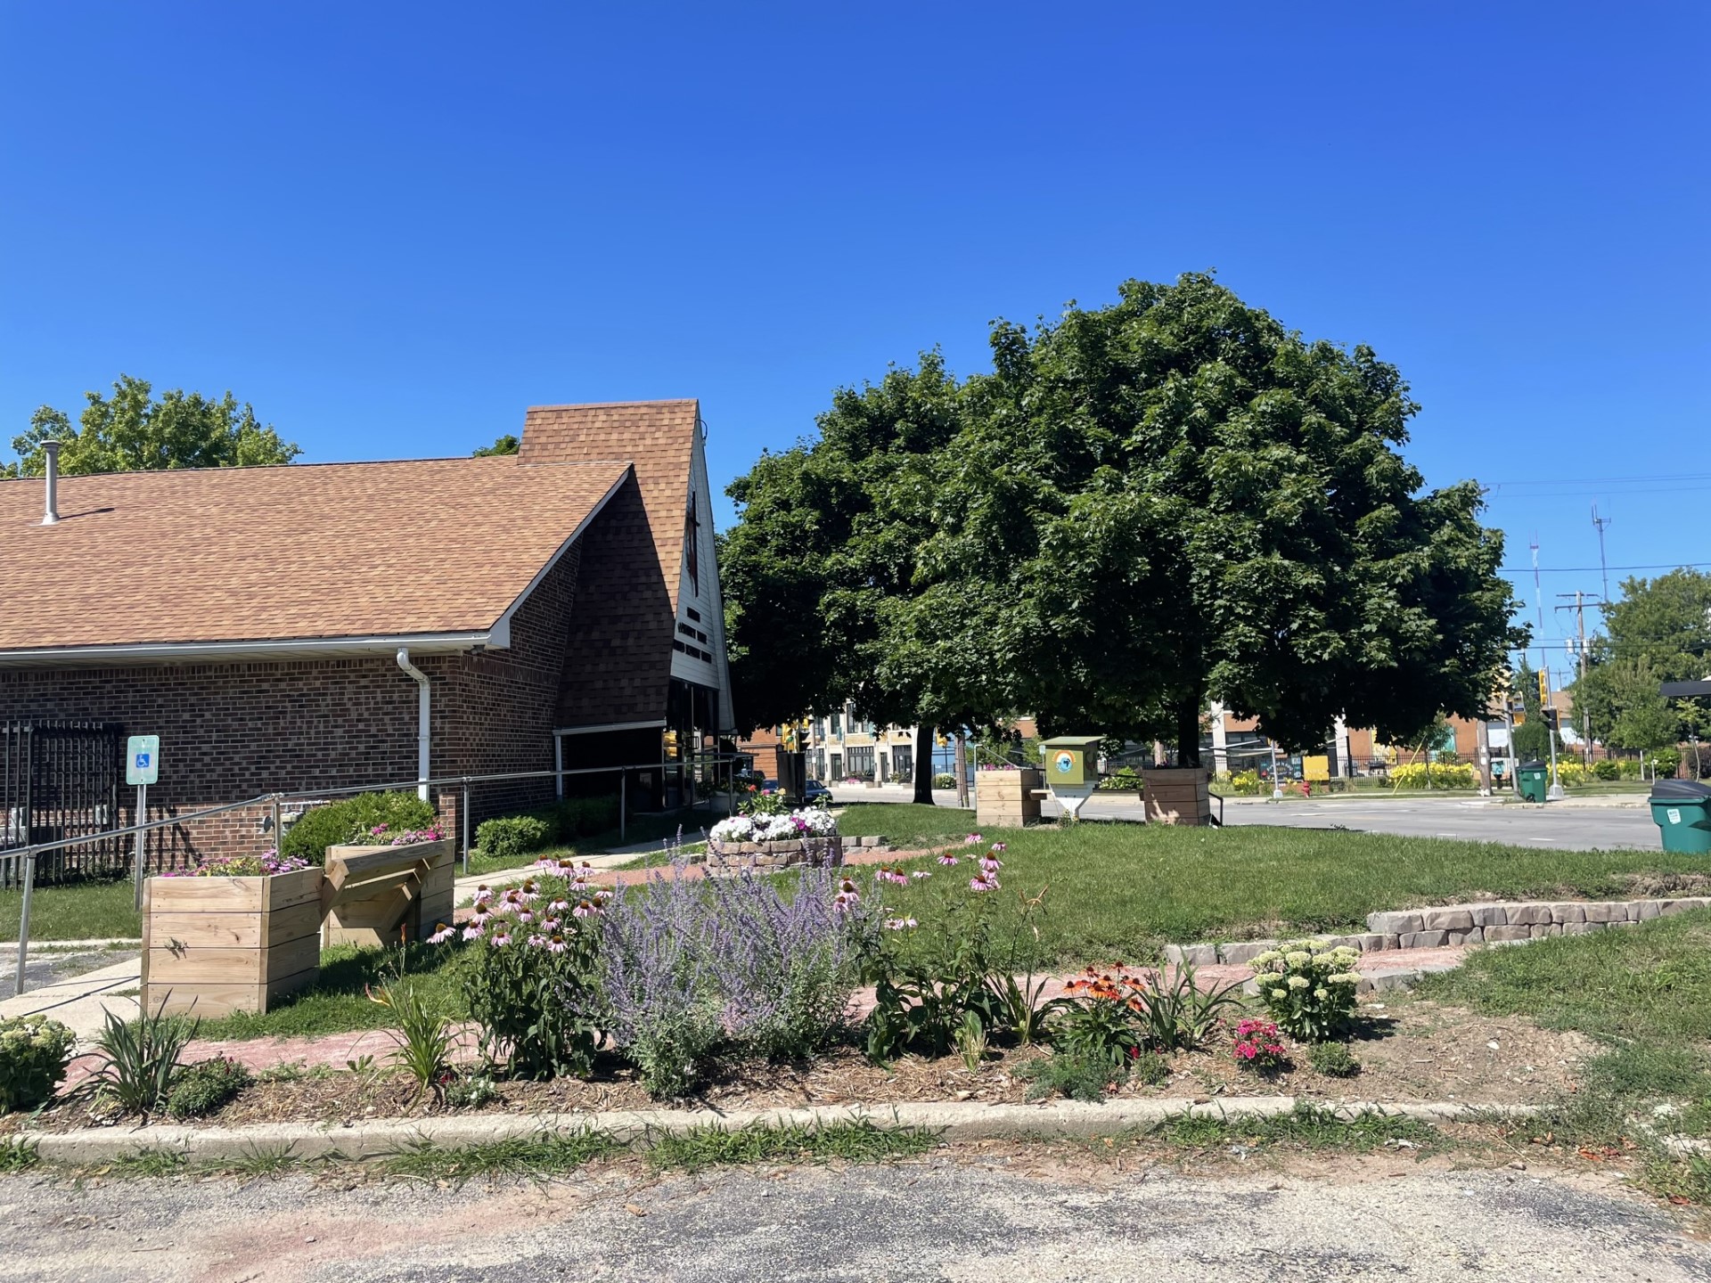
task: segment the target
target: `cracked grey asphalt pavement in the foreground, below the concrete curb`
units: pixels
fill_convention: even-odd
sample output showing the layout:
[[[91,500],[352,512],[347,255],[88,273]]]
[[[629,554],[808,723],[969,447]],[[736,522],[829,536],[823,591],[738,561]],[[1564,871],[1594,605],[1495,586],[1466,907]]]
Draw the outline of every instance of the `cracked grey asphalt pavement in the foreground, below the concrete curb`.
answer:
[[[0,1278],[53,1283],[1489,1278],[1689,1283],[1711,1249],[1610,1180],[1377,1160],[1280,1174],[897,1167],[339,1189],[0,1179]]]

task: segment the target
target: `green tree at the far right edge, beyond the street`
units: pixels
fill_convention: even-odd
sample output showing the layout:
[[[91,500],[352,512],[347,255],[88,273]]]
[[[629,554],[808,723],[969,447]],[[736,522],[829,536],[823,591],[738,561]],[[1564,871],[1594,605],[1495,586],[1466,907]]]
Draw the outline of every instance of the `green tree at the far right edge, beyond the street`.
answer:
[[[1586,659],[1586,676],[1571,689],[1595,739],[1656,749],[1697,732],[1711,700],[1665,700],[1658,688],[1711,672],[1711,575],[1682,568],[1624,580],[1622,597],[1603,607],[1603,630]]]

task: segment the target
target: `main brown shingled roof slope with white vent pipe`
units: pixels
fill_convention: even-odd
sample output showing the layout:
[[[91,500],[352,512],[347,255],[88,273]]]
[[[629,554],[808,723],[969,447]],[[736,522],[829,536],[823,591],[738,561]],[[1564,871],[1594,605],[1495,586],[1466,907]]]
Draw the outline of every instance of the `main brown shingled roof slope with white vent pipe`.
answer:
[[[628,464],[517,458],[0,481],[0,652],[491,628]],[[534,460],[541,462],[541,460]]]

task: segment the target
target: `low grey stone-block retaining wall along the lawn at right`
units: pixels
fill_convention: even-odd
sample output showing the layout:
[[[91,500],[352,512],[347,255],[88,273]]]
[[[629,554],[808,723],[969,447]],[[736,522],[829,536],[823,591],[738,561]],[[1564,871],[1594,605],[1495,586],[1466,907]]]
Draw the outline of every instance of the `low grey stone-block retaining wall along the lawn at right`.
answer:
[[[1362,953],[1436,949],[1446,944],[1518,944],[1547,936],[1584,936],[1607,927],[1632,927],[1655,917],[1711,907],[1711,896],[1673,900],[1526,900],[1367,913],[1367,929],[1353,936],[1312,936]],[[1165,961],[1247,963],[1276,948],[1275,939],[1232,944],[1167,944]]]

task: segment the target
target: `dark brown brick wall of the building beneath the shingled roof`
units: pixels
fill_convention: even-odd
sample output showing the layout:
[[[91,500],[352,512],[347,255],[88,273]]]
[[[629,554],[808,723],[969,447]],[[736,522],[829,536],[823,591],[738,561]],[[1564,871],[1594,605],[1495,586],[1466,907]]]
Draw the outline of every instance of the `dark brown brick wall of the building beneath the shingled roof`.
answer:
[[[423,655],[431,689],[435,775],[551,770],[553,713],[563,681],[580,551],[571,547],[518,607],[512,647]],[[669,621],[669,616],[667,616]],[[664,671],[664,662],[662,662]],[[96,718],[161,737],[151,818],[269,792],[306,792],[416,778],[416,683],[387,657],[125,669],[0,669],[0,715]],[[133,790],[120,789],[132,821]],[[474,785],[471,823],[537,806],[551,780]],[[460,790],[438,795],[459,833]],[[262,818],[234,811],[151,835],[151,864],[272,845]]]

